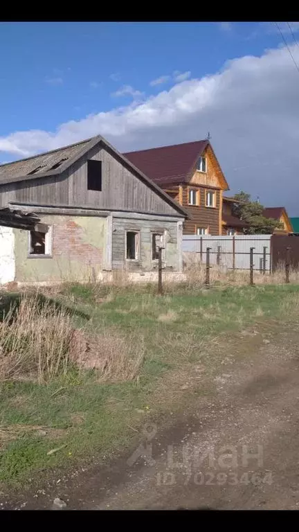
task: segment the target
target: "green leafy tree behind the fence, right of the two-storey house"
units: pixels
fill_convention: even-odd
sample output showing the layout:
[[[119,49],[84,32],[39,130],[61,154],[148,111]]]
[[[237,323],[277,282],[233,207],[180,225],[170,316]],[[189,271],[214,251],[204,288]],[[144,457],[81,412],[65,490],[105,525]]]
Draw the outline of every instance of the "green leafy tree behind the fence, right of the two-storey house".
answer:
[[[249,227],[244,229],[247,235],[272,234],[274,229],[282,229],[283,224],[274,218],[266,218],[262,215],[264,206],[259,202],[253,202],[251,195],[239,192],[233,196],[239,203],[233,205],[233,215],[246,222]]]

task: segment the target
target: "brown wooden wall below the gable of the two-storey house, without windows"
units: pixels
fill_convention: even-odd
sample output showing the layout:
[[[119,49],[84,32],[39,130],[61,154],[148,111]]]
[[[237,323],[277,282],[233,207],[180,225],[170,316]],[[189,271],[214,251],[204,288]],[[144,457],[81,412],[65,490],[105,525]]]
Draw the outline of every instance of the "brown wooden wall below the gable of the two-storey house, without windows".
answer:
[[[219,235],[220,192],[219,189],[205,187],[191,187],[199,190],[199,205],[188,205],[188,186],[183,186],[183,206],[190,214],[190,219],[183,223],[183,234],[194,235],[197,227],[208,228],[210,235]],[[206,190],[216,194],[216,206],[206,207]]]

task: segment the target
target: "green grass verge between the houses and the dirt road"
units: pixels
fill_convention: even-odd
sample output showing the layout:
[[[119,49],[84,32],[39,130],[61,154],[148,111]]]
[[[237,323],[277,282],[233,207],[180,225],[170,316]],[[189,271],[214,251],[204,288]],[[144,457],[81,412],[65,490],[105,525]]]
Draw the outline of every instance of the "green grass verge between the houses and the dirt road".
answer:
[[[24,484],[41,470],[71,468],[91,456],[107,459],[129,446],[145,420],[183,407],[181,402],[173,403],[168,379],[172,372],[192,371],[199,361],[217,371],[221,354],[212,355],[204,342],[255,321],[287,321],[298,312],[299,285],[192,293],[179,287],[177,293],[160,297],[152,288],[146,292],[146,287],[111,290],[69,285],[56,300],[77,310],[75,323],[87,331],[100,333],[111,327],[128,338],[131,332],[135,338],[142,336],[143,366],[138,379],[116,384],[100,384],[93,371],[71,371],[48,384],[2,382],[0,481],[4,484]],[[194,391],[201,393],[209,391],[205,387]]]

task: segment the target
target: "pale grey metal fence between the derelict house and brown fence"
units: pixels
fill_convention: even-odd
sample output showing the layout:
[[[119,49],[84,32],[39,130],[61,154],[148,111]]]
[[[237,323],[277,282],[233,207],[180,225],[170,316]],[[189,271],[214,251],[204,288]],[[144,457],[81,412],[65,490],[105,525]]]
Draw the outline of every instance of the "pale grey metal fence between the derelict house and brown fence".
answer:
[[[207,248],[210,248],[210,264],[228,269],[250,269],[253,248],[253,269],[271,272],[271,235],[183,235],[183,253],[197,254],[204,264]]]

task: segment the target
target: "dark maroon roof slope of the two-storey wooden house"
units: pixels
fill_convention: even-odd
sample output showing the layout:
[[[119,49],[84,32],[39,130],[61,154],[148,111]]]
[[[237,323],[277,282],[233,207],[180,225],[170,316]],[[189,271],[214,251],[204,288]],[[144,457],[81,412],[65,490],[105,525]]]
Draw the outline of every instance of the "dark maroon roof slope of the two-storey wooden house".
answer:
[[[188,177],[208,141],[152,148],[123,155],[157,185],[182,183]]]

